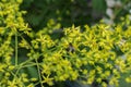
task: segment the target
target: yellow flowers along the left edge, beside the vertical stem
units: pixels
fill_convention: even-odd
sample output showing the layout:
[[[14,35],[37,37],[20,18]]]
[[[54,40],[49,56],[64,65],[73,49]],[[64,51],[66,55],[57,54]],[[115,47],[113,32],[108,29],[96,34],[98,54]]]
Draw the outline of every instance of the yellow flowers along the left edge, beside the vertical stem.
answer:
[[[17,65],[17,37],[31,30],[22,17],[25,11],[20,11],[21,3],[22,0],[0,1],[0,87],[24,87],[32,82],[26,74],[20,73]]]

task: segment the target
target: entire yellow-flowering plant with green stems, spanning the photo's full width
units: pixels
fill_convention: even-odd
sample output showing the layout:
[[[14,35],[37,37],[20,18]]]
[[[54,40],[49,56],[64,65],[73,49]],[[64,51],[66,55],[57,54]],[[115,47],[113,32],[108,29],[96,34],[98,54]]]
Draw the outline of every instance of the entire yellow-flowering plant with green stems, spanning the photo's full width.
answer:
[[[100,22],[84,29],[72,25],[62,29],[61,38],[52,39],[53,27],[60,24],[50,20],[34,33],[23,20],[26,12],[20,11],[21,3],[0,1],[1,87],[43,87],[66,80],[107,87],[104,79],[117,87],[121,73],[131,71],[131,15],[114,25]],[[20,61],[22,50],[26,54]]]

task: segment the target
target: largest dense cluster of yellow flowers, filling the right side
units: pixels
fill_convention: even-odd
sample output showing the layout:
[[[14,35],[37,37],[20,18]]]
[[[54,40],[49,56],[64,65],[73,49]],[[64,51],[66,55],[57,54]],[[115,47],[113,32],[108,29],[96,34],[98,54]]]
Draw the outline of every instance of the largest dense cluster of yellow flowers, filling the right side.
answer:
[[[83,32],[74,26],[64,28],[64,36],[44,53],[43,75],[50,80],[78,79],[104,87],[107,83],[103,80],[107,79],[109,85],[118,86],[120,74],[128,72],[131,64],[131,34],[127,35],[130,24],[128,26],[123,29],[120,24],[99,23],[92,27],[85,25]]]

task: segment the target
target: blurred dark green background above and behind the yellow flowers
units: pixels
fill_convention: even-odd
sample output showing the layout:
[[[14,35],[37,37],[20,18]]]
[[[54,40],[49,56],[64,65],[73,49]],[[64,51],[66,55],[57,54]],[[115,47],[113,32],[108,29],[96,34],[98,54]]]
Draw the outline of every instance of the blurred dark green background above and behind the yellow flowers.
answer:
[[[47,26],[52,18],[61,27],[93,25],[105,18],[107,23],[131,12],[130,0],[23,0],[21,10],[27,11],[25,21],[35,30]]]

